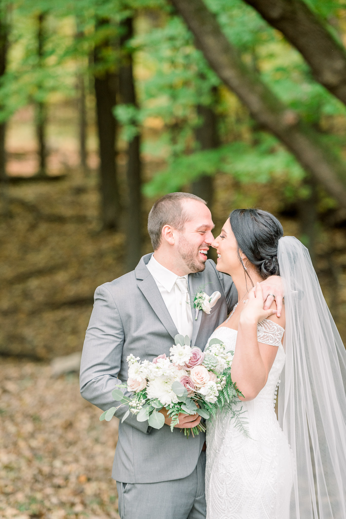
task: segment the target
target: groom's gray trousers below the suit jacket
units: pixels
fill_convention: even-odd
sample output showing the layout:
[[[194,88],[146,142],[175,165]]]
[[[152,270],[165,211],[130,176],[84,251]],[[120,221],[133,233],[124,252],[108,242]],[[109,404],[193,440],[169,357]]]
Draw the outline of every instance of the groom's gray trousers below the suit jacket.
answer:
[[[117,481],[121,519],[205,519],[205,468],[206,453],[201,452],[195,470],[181,480]]]

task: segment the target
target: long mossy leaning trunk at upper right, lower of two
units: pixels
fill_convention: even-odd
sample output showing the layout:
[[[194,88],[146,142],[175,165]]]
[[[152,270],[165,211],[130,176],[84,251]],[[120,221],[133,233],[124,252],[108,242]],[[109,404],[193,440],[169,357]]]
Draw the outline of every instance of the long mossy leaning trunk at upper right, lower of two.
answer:
[[[222,33],[217,19],[202,0],[171,0],[189,28],[212,69],[248,107],[259,124],[281,140],[301,166],[328,193],[346,207],[346,168],[310,125],[299,122],[267,87],[261,77],[243,63],[237,50]]]

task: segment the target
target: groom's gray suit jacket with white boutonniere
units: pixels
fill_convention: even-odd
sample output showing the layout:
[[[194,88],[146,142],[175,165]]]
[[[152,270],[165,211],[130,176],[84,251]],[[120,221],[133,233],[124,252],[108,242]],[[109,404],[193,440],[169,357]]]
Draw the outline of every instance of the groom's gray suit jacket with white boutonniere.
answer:
[[[133,353],[140,360],[152,360],[169,348],[178,333],[167,307],[146,265],[151,254],[143,256],[136,269],[95,291],[95,302],[86,330],[80,366],[80,391],[85,400],[103,411],[114,403],[111,392],[127,380],[126,357]],[[205,285],[203,287],[203,285]],[[193,321],[191,345],[204,349],[211,333],[237,302],[232,278],[221,274],[208,260],[203,272],[189,275],[191,300],[199,290],[218,290],[221,298],[210,315],[199,311]],[[194,311],[193,311],[194,313]],[[127,391],[125,390],[125,394]],[[123,405],[116,416],[122,418]],[[180,429],[167,425],[152,429],[130,415],[119,425],[119,440],[112,477],[124,483],[155,483],[188,476],[197,465],[205,434],[186,439]]]

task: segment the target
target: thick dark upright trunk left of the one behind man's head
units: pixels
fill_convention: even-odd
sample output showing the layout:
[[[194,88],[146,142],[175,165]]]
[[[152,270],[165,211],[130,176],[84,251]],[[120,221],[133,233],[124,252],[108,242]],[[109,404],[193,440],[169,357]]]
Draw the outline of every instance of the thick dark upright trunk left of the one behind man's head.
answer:
[[[117,102],[116,31],[109,18],[98,19],[94,49],[94,81],[100,157],[100,192],[104,229],[118,229],[121,211],[116,162],[117,121],[113,107]]]

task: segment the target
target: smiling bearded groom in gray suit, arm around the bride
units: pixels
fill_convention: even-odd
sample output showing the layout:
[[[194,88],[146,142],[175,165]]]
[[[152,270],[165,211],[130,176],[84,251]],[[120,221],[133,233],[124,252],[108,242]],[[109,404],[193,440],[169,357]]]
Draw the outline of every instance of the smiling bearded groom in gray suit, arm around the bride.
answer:
[[[152,361],[166,353],[180,333],[191,346],[204,349],[209,336],[238,301],[232,278],[207,260],[214,241],[214,224],[206,202],[188,193],[171,193],[157,200],[148,217],[154,254],[143,256],[136,269],[104,283],[86,330],[80,367],[83,398],[104,411],[114,404],[111,392],[127,380],[126,358],[133,353]],[[210,314],[191,309],[200,290],[221,298]],[[282,301],[280,278],[263,282],[264,296]],[[268,297],[269,308],[272,296]],[[268,306],[269,305],[269,306]],[[125,391],[125,394],[129,394]],[[118,409],[122,418],[127,407]],[[112,477],[117,481],[121,519],[204,519],[205,434],[189,439],[182,427],[194,427],[200,417],[180,415],[173,432],[165,409],[165,424],[152,429],[148,421],[129,415],[119,424]]]

